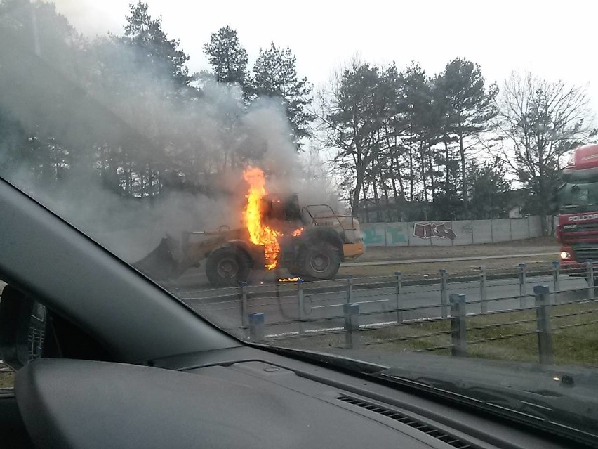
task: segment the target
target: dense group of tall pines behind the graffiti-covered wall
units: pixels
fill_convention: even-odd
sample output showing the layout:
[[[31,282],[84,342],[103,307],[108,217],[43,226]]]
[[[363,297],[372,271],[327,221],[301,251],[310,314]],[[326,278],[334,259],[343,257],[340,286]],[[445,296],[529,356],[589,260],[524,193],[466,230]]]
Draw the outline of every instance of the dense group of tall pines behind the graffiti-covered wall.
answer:
[[[467,163],[493,129],[498,92],[478,65],[456,59],[430,78],[416,62],[401,72],[364,63],[333,84],[321,119],[355,212],[405,219],[408,201],[422,219],[470,218]]]

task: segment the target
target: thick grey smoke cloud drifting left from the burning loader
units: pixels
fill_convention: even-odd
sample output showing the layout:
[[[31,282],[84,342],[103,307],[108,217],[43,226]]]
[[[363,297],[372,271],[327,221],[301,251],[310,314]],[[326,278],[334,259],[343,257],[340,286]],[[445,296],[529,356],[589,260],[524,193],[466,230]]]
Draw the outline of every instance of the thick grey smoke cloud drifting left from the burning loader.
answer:
[[[0,77],[0,119],[10,117],[40,141],[55,139],[50,148],[79,155],[87,171],[57,182],[59,171],[69,171],[57,162],[54,178],[44,180],[9,133],[0,138],[1,176],[127,261],[147,254],[166,233],[178,239],[183,231],[241,226],[247,164],[264,169],[272,193],[298,193],[303,204],[331,200],[323,178],[306,175],[276,100],[246,106],[238,87],[215,82],[205,82],[199,96],[181,94],[152,70],[140,70],[131,48],[107,39],[95,41],[87,59],[44,54],[43,46],[41,58],[19,51],[27,63]],[[0,51],[0,58],[11,53]],[[117,67],[110,77],[102,72],[106,60]],[[185,161],[179,172],[201,188],[169,188],[155,197],[108,190],[98,167],[86,161],[124,149],[156,167],[165,157]]]

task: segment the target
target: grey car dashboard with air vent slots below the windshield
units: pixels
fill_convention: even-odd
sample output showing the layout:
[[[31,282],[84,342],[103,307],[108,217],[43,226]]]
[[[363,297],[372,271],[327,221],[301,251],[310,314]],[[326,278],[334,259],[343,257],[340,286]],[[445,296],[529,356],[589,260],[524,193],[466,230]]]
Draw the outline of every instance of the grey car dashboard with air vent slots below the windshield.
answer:
[[[35,447],[569,447],[251,347],[154,365],[40,359],[24,367],[15,393]]]

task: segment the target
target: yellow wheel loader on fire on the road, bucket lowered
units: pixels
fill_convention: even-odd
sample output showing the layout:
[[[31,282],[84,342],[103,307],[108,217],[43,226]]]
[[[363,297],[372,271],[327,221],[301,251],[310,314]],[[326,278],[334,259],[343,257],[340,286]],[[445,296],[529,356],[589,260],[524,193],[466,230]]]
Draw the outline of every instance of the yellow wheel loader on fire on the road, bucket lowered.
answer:
[[[175,279],[206,259],[210,284],[230,287],[246,282],[251,270],[274,268],[286,268],[304,280],[331,279],[342,261],[364,253],[357,219],[339,216],[326,205],[300,211],[294,200],[286,204],[263,200],[261,212],[264,222],[276,223],[274,261],[271,248],[253,243],[247,228],[222,227],[184,233],[181,242],[167,235],[133,266],[154,279]],[[192,242],[194,238],[200,240]]]

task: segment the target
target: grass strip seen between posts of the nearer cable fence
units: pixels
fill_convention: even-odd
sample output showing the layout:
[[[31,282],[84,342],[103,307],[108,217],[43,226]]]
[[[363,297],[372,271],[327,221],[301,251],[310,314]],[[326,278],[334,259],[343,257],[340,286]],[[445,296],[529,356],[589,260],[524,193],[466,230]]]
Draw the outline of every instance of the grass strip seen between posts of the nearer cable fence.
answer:
[[[576,327],[554,330],[552,341],[554,363],[557,365],[583,364],[598,366],[598,301],[580,304],[562,304],[552,306],[551,315],[580,313],[580,315],[552,318],[553,329],[564,325]],[[512,334],[524,334],[536,330],[536,311],[514,311],[489,315],[467,316],[467,356],[494,360],[517,360],[538,362],[538,340],[536,334],[523,337],[501,338]],[[514,322],[531,320],[526,323]],[[473,327],[499,325],[472,330]],[[387,326],[375,330],[364,329],[360,332],[363,349],[371,351],[412,352],[434,346],[451,344],[449,321],[408,323]],[[363,328],[362,328],[363,329]],[[446,332],[441,335],[435,333]],[[405,339],[405,340],[402,340]],[[495,339],[480,344],[472,341]],[[397,340],[397,341],[394,341]],[[280,346],[319,349],[345,345],[344,334],[319,335],[300,339],[274,340]],[[434,353],[449,354],[449,349]]]

